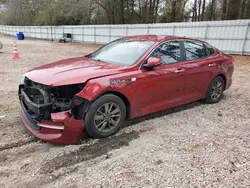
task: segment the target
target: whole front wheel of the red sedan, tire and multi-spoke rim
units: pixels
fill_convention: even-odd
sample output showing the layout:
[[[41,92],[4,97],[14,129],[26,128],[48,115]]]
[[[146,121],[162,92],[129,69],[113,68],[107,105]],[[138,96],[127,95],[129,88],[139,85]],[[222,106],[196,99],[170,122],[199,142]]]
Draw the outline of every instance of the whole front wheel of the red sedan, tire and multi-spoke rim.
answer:
[[[115,134],[126,118],[126,106],[113,94],[103,95],[92,103],[85,118],[85,130],[94,138]]]

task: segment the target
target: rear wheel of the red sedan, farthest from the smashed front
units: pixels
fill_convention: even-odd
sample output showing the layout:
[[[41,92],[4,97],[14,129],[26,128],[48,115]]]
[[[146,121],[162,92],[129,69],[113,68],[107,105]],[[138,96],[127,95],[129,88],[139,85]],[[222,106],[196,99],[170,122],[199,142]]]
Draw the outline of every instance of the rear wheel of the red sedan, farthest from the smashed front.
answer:
[[[218,91],[215,89],[215,85],[217,84],[220,84],[220,89],[218,89]],[[221,76],[215,77],[207,89],[205,102],[208,104],[218,103],[223,96],[224,89],[225,89],[224,79]],[[215,95],[214,93],[217,94]]]

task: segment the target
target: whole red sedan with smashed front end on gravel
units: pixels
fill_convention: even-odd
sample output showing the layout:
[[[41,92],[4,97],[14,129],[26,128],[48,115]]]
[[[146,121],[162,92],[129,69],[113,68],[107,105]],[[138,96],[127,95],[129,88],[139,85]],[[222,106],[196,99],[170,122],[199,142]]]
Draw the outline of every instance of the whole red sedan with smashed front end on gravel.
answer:
[[[126,119],[204,99],[220,101],[233,58],[206,42],[175,36],[118,39],[79,58],[25,73],[20,115],[36,137],[77,144],[115,134]]]

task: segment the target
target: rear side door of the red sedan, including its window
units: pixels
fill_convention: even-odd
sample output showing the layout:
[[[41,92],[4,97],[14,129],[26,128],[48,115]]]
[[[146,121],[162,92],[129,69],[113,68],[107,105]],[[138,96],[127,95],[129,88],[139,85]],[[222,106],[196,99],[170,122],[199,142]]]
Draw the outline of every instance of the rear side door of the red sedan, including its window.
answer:
[[[183,41],[186,57],[185,96],[190,101],[204,98],[208,85],[215,76],[220,59],[199,41]]]

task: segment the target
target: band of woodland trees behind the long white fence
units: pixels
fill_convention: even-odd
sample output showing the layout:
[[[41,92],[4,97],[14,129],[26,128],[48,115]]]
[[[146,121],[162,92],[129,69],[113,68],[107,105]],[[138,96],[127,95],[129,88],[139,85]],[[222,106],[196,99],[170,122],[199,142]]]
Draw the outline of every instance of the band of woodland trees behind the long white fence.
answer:
[[[136,24],[250,18],[250,0],[0,0],[7,25]]]

